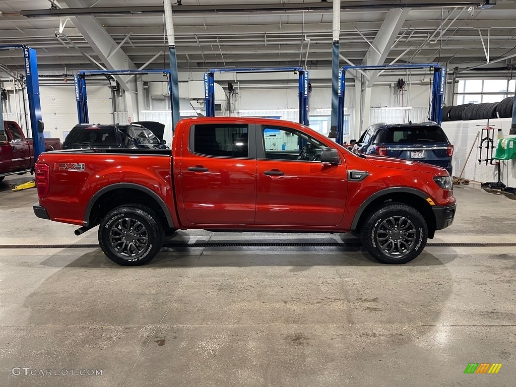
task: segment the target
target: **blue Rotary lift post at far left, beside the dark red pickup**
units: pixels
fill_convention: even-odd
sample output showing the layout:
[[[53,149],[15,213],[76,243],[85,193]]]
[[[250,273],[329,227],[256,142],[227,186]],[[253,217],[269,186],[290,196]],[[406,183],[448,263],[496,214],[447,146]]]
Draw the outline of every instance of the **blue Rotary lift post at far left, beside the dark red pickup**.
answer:
[[[41,102],[39,99],[38,61],[36,50],[25,44],[0,45],[0,50],[21,49],[23,51],[23,67],[29,104],[30,129],[34,144],[34,159],[45,151],[43,139],[43,121],[41,120]],[[2,127],[2,130],[4,128]]]

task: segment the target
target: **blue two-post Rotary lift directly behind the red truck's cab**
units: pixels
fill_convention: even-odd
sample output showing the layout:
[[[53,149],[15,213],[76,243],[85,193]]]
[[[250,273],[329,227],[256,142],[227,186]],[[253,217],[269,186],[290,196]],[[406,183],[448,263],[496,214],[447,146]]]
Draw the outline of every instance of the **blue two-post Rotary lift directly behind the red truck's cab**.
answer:
[[[285,73],[299,74],[299,123],[308,126],[308,71],[302,67],[265,67],[265,68],[222,68],[209,69],[204,73],[204,98],[206,117],[215,117],[215,73]]]

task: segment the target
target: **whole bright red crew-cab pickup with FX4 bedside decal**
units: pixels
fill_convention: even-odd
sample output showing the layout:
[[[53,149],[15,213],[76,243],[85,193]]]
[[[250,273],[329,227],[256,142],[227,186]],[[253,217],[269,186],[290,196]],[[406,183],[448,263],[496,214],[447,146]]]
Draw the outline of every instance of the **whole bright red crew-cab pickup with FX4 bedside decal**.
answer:
[[[166,229],[361,234],[382,263],[406,263],[453,222],[444,168],[356,155],[301,124],[189,118],[172,150],[88,149],[41,154],[36,216],[96,225],[104,253],[141,265]]]

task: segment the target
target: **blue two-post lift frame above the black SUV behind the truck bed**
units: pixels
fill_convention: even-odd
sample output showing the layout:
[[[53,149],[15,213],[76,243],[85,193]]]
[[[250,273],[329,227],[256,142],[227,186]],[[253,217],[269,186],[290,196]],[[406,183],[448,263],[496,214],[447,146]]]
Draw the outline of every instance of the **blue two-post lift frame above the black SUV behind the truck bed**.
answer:
[[[86,77],[88,75],[144,75],[144,74],[166,74],[168,79],[168,89],[170,92],[170,103],[172,104],[172,82],[170,80],[170,69],[159,70],[79,70],[74,76],[75,99],[77,101],[77,116],[79,124],[89,123],[88,117],[88,95],[86,93]],[[171,107],[172,122],[174,122],[174,109]],[[173,126],[173,125],[172,125]],[[172,133],[174,131],[172,127]]]

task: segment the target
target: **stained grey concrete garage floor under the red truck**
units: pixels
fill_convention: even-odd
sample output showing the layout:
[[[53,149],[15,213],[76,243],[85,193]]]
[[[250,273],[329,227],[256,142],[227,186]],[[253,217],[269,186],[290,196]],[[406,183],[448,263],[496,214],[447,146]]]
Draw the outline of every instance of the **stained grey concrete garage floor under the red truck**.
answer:
[[[36,190],[9,190],[26,180],[0,183],[0,245],[97,243],[96,229],[37,219]],[[433,242],[516,242],[516,201],[456,197],[455,224]],[[175,240],[271,239],[341,241]],[[404,266],[358,249],[191,248],[137,268],[100,249],[2,248],[0,386],[512,386],[515,275],[507,247],[429,247]],[[503,366],[464,375],[468,363]],[[41,369],[59,375],[30,376]]]

